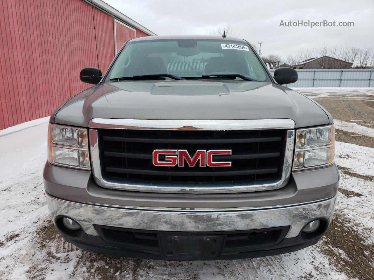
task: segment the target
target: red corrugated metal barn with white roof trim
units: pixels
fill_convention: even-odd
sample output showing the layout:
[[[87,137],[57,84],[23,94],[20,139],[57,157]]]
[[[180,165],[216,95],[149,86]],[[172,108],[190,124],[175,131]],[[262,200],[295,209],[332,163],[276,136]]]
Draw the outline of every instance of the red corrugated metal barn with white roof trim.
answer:
[[[89,87],[82,68],[104,73],[127,40],[156,35],[100,0],[1,1],[0,34],[0,130],[49,116]]]

